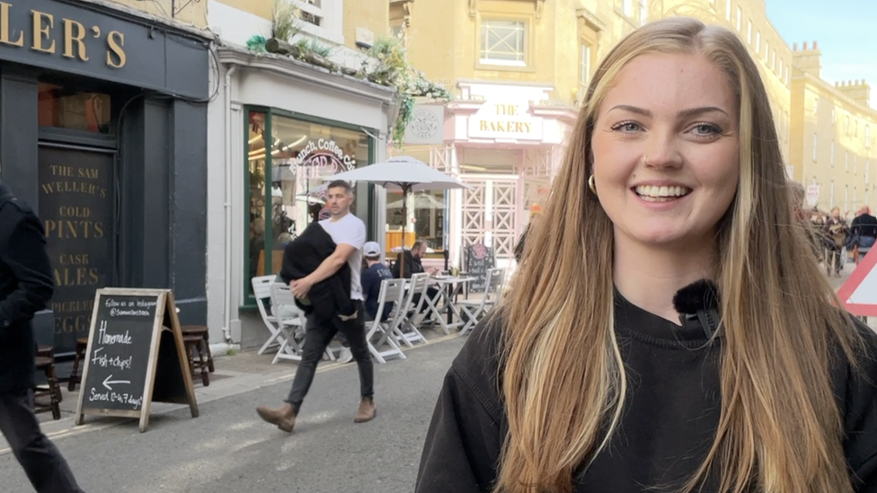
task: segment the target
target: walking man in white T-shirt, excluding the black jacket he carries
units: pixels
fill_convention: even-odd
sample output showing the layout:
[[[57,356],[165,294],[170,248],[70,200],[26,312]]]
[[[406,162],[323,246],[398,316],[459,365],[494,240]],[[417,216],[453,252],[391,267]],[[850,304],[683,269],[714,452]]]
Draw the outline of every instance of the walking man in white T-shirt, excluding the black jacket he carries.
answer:
[[[280,409],[267,407],[257,408],[259,416],[281,430],[292,433],[296,426],[296,418],[305,400],[311,383],[314,382],[316,365],[323,357],[323,352],[339,331],[350,343],[353,358],[359,367],[359,410],[355,423],[364,423],[375,418],[376,408],[374,396],[375,370],[368,352],[363,308],[362,286],[360,285],[360,269],[362,266],[362,247],[366,242],[366,224],[357,216],[350,214],[353,204],[353,189],[346,181],[336,180],[329,184],[327,205],[332,213],[330,219],[320,221],[320,225],[332,236],[336,247],[334,253],[310,275],[294,279],[289,283],[293,295],[298,299],[306,299],[308,292],[317,283],[329,279],[341,269],[345,263],[350,267],[350,300],[356,310],[355,320],[346,321],[341,317],[333,317],[329,321],[321,321],[316,317],[308,317],[305,330],[305,347],[302,361],[298,365],[296,378],[286,403]]]

